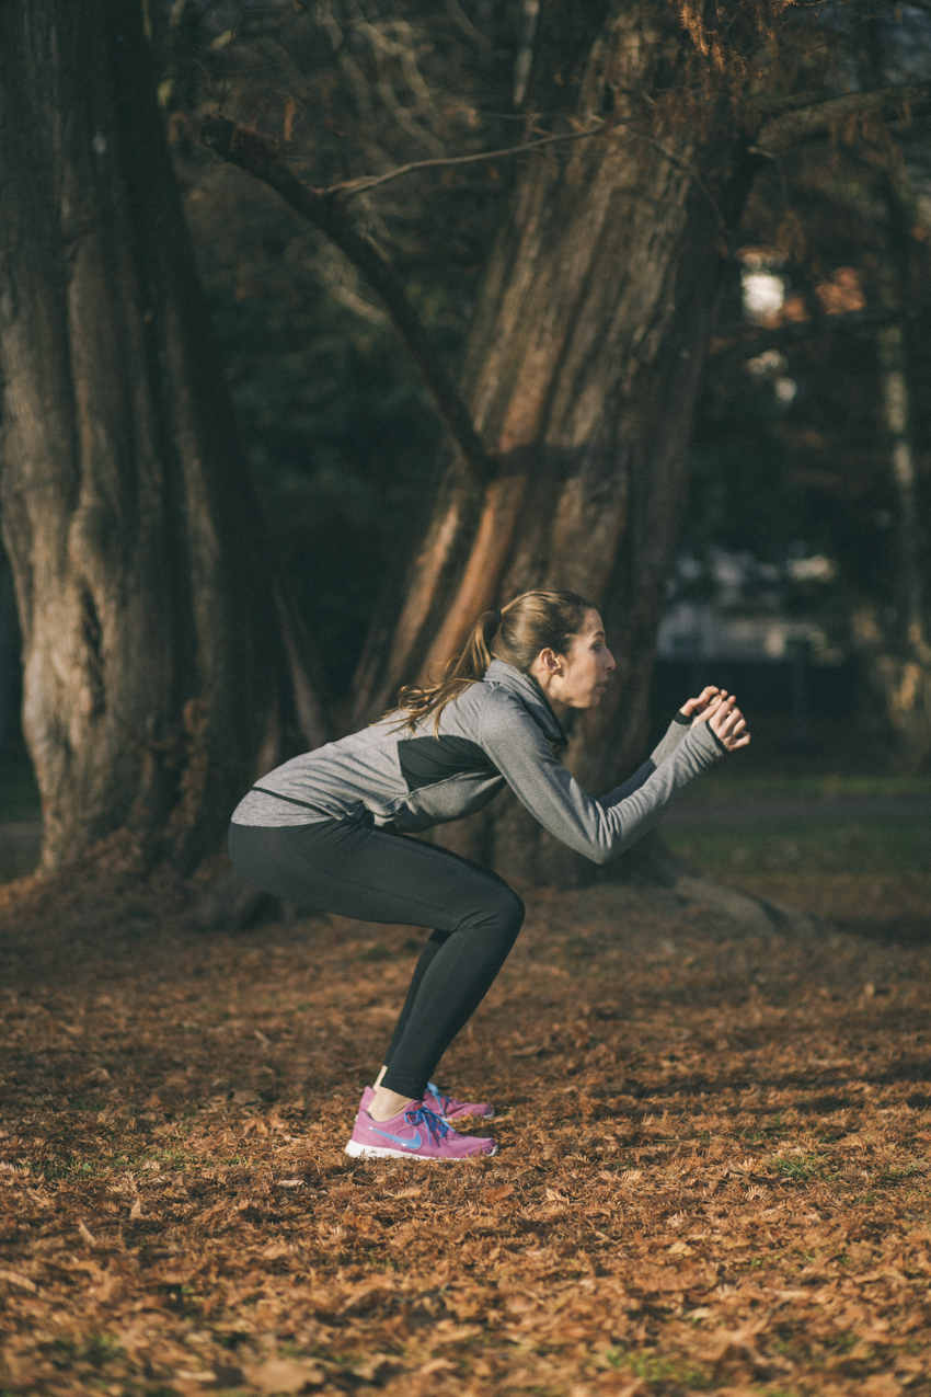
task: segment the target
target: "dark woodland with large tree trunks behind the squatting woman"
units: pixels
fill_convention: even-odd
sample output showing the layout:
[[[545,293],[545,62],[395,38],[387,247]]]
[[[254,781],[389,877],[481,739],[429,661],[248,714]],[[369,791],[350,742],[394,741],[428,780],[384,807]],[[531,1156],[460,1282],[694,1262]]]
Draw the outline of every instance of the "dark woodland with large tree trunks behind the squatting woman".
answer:
[[[670,590],[713,591],[722,549],[840,676],[801,764],[927,771],[921,6],[7,14],[6,595],[46,870],[114,834],[195,870],[257,771],[540,583],[606,615],[618,682],[569,760],[610,785],[676,701]],[[776,763],[784,675],[747,696]],[[452,838],[582,876],[514,802]]]

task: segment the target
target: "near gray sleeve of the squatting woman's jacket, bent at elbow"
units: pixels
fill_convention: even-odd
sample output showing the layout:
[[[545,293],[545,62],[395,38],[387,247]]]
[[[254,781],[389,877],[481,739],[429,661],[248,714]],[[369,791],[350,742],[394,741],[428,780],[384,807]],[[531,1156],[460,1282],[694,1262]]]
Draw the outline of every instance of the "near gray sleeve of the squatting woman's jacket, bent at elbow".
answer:
[[[480,745],[516,798],[544,830],[595,863],[609,863],[650,830],[677,791],[706,771],[724,749],[708,724],[688,728],[671,756],[596,800],[553,754],[546,736],[508,696],[496,696],[482,715]]]

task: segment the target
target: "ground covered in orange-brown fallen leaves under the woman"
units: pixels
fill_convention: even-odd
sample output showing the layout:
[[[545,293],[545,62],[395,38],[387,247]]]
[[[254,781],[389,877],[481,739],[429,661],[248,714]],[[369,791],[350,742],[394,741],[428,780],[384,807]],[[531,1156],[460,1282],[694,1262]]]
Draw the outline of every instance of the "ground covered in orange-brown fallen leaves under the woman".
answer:
[[[0,1390],[931,1393],[931,876],[757,890],[528,893],[459,1166],[343,1154],[409,929],[7,901]]]

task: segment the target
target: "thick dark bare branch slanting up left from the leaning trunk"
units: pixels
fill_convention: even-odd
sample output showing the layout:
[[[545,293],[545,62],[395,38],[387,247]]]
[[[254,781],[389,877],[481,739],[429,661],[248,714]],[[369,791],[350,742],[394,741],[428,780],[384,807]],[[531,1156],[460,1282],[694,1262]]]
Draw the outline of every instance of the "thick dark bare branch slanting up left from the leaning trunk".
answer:
[[[445,422],[462,458],[479,485],[487,485],[496,475],[496,462],[486,451],[472,422],[472,414],[455,384],[440,363],[417,312],[391,263],[371,237],[353,226],[339,200],[329,191],[310,189],[292,173],[279,158],[276,145],[221,116],[201,123],[201,141],[221,159],[239,165],[248,175],[281,194],[286,204],[318,228],[378,292],[395,328],[413,355],[433,401]]]

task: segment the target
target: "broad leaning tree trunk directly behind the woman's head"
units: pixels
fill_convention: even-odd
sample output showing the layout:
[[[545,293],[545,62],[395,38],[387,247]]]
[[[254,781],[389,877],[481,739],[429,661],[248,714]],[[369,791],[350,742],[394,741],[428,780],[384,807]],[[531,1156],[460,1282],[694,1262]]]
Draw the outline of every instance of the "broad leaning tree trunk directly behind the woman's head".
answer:
[[[553,7],[537,70],[557,71],[579,20]],[[394,634],[363,657],[357,719],[440,668],[486,606],[569,587],[602,606],[618,659],[610,701],[576,725],[569,764],[596,792],[642,759],[655,630],[685,485],[685,446],[722,279],[720,237],[748,183],[733,110],[690,117],[695,52],[666,7],[613,4],[589,29],[578,85],[533,98],[610,106],[609,134],[528,162],[491,258],[466,391],[497,478],[452,465],[413,562]],[[565,98],[563,98],[565,102]],[[645,116],[643,113],[649,113]],[[381,661],[380,657],[385,659]],[[514,803],[442,842],[537,879],[575,855]]]

